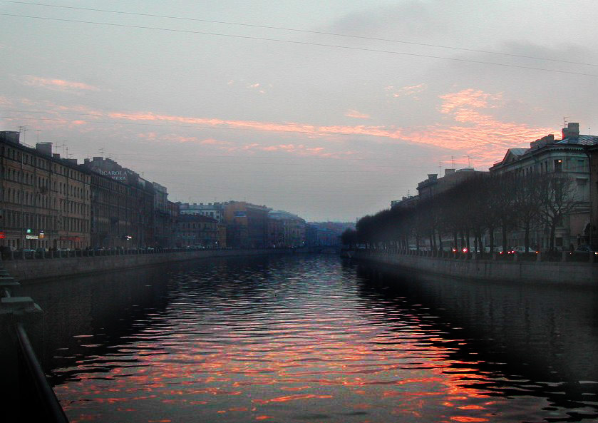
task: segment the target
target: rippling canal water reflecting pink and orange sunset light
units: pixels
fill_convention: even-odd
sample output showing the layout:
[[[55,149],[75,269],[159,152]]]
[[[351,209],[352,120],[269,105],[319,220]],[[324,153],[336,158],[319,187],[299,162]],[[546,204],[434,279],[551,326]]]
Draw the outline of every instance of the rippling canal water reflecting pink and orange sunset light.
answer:
[[[598,294],[329,255],[29,285],[71,422],[598,422]]]

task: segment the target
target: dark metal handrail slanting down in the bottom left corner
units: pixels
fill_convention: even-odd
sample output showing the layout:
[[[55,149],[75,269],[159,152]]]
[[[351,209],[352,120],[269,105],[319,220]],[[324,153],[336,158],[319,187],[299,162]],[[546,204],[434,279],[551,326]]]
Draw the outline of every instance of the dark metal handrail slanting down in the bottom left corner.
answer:
[[[43,406],[48,412],[48,417],[52,419],[52,422],[68,423],[68,418],[66,417],[66,414],[64,414],[61,404],[58,402],[58,398],[56,398],[56,394],[54,394],[52,387],[48,383],[46,374],[44,374],[41,369],[41,365],[33,351],[33,346],[29,341],[27,332],[25,332],[25,328],[21,323],[17,322],[15,330],[27,369],[31,374],[31,379],[33,379],[33,384],[35,385],[38,397],[41,399]]]

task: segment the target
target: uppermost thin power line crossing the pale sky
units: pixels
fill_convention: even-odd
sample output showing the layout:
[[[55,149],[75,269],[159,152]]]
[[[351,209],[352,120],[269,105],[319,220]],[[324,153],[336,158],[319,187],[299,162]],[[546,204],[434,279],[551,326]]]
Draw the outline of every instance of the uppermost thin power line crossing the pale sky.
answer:
[[[78,7],[78,6],[61,6],[58,4],[42,4],[42,3],[33,3],[29,1],[11,1],[11,0],[0,0],[3,3],[14,3],[14,4],[26,4],[29,6],[45,6],[45,7],[53,7],[53,8],[60,8],[60,9],[75,9],[75,10],[84,10],[84,11],[100,11],[110,14],[123,14],[123,15],[132,15],[132,16],[148,16],[152,18],[164,18],[164,19],[177,19],[180,21],[195,21],[195,22],[205,22],[208,24],[223,24],[223,25],[235,25],[235,26],[247,26],[250,28],[262,28],[262,29],[276,29],[279,31],[292,31],[292,32],[299,32],[305,34],[317,34],[317,35],[329,35],[329,36],[339,36],[339,37],[346,37],[351,39],[364,39],[364,40],[371,40],[371,41],[385,41],[389,43],[398,43],[398,44],[410,44],[413,46],[425,46],[425,47],[435,47],[438,49],[450,49],[450,50],[458,50],[458,51],[470,51],[473,53],[485,53],[485,54],[495,54],[499,56],[510,56],[510,57],[519,57],[519,58],[532,58],[535,60],[543,60],[543,61],[553,61],[558,63],[569,63],[574,65],[584,65],[584,66],[598,66],[595,63],[584,63],[584,62],[576,62],[576,61],[566,61],[556,58],[546,58],[546,57],[537,57],[537,56],[527,56],[525,54],[515,54],[515,53],[503,53],[501,51],[488,51],[488,50],[478,50],[478,49],[468,49],[465,47],[455,47],[455,46],[442,46],[440,44],[428,44],[428,43],[419,43],[416,41],[404,41],[404,40],[396,40],[396,39],[383,39],[371,36],[358,36],[358,35],[351,35],[351,34],[339,34],[335,32],[326,32],[326,31],[310,31],[307,29],[296,29],[296,28],[286,28],[282,26],[268,26],[268,25],[257,25],[257,24],[244,24],[240,22],[232,22],[232,21],[215,21],[210,19],[197,19],[197,18],[185,18],[183,16],[168,16],[168,15],[158,15],[158,14],[143,14],[138,12],[129,12],[129,11],[115,11],[109,9],[94,9],[90,7]]]

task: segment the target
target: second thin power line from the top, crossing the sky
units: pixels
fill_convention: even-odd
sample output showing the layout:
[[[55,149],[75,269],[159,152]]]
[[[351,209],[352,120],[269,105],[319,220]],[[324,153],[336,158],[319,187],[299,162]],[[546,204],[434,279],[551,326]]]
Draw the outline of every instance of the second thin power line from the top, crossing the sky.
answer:
[[[77,19],[59,19],[59,18],[48,18],[46,16],[29,16],[29,15],[19,15],[19,14],[4,14],[0,13],[0,16],[13,16],[18,18],[26,18],[26,19],[41,19],[46,21],[59,21],[59,22],[71,22],[77,24],[91,24],[91,25],[101,25],[101,26],[116,26],[120,28],[133,28],[133,29],[150,29],[152,31],[167,31],[167,32],[176,32],[182,34],[200,34],[200,35],[211,35],[211,36],[222,36],[222,37],[230,37],[234,39],[249,39],[249,40],[258,40],[258,41],[274,41],[277,43],[284,43],[284,44],[296,44],[302,46],[318,46],[318,47],[329,47],[334,49],[345,49],[345,50],[355,50],[355,51],[371,51],[373,53],[388,53],[388,54],[397,54],[400,56],[411,56],[411,57],[423,57],[423,58],[439,58],[443,60],[450,60],[450,61],[458,61],[464,63],[478,63],[483,65],[491,65],[491,66],[503,66],[507,68],[519,68],[519,69],[528,69],[532,71],[545,71],[545,72],[553,72],[553,73],[567,73],[569,75],[581,75],[581,76],[592,76],[598,77],[597,74],[594,73],[582,73],[582,72],[573,72],[573,71],[559,71],[557,69],[547,69],[547,68],[536,68],[534,66],[522,66],[522,65],[512,65],[507,63],[497,63],[497,62],[489,62],[489,61],[478,61],[478,60],[470,60],[467,58],[454,58],[454,57],[445,57],[445,56],[433,56],[429,54],[418,54],[418,53],[406,53],[403,51],[391,51],[391,50],[380,50],[380,49],[366,49],[364,47],[353,47],[353,46],[339,46],[336,44],[321,44],[321,43],[312,43],[309,41],[292,41],[292,40],[283,40],[283,39],[270,39],[266,37],[258,37],[258,36],[244,36],[244,35],[234,35],[234,34],[220,34],[217,32],[207,32],[207,31],[190,31],[187,29],[171,29],[171,28],[158,28],[155,26],[141,26],[141,25],[125,25],[125,24],[111,24],[108,22],[95,22],[95,21],[80,21]]]

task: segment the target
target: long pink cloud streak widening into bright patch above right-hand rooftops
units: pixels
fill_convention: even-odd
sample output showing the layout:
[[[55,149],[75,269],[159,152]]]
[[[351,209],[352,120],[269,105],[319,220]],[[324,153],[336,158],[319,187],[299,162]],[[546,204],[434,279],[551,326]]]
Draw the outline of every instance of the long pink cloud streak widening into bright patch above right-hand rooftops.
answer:
[[[421,128],[397,128],[395,126],[315,126],[305,123],[274,123],[260,121],[233,121],[218,118],[191,118],[165,116],[154,113],[110,113],[111,118],[130,121],[167,121],[195,124],[214,128],[236,128],[252,131],[299,133],[309,138],[329,136],[371,136],[393,142],[425,144],[466,154],[473,158],[474,165],[491,165],[500,160],[507,148],[525,147],[552,128],[527,126],[517,122],[502,122],[488,112],[497,106],[500,94],[467,89],[447,93],[439,97],[439,111],[448,123],[435,123]],[[247,149],[247,146],[244,147]],[[283,148],[277,147],[282,150]],[[274,151],[274,150],[272,150]]]

